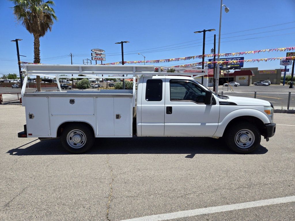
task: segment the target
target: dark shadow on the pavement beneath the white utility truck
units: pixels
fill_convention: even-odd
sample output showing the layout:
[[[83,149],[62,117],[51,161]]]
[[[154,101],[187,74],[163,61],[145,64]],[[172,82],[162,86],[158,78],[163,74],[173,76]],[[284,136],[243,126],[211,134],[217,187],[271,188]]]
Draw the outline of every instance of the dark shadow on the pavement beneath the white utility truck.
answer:
[[[31,142],[11,149],[6,153],[17,156],[65,155],[59,139]],[[29,146],[30,145],[30,146]],[[265,154],[268,149],[259,146],[251,154]],[[231,151],[222,139],[193,137],[133,137],[133,138],[96,138],[92,149],[84,154],[237,154]]]

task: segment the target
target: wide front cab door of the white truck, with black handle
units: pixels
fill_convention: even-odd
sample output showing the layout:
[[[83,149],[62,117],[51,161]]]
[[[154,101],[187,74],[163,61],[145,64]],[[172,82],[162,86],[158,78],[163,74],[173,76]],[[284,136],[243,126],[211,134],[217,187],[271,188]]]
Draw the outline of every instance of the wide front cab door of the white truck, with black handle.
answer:
[[[213,136],[219,120],[219,103],[205,105],[206,90],[193,80],[165,82],[164,136]]]

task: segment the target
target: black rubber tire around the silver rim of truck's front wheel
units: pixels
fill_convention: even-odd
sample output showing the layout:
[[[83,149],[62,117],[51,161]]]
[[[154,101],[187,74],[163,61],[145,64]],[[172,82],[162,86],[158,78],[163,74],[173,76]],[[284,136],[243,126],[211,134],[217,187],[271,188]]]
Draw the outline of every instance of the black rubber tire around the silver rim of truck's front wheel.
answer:
[[[252,144],[251,144],[251,141],[249,141],[251,145],[247,148],[241,148],[240,146],[238,146],[237,143],[239,143],[241,146],[243,145],[243,143],[241,141],[239,141],[238,139],[237,139],[237,141],[235,141],[236,135],[238,136],[238,133],[242,134],[241,131],[243,131],[243,130],[245,130],[246,133],[248,131],[250,131],[254,136],[254,141],[252,141]],[[249,132],[248,132],[248,134],[250,137],[252,137]],[[245,136],[247,136],[247,135],[245,134]],[[250,140],[249,137],[248,137],[248,139]],[[224,133],[224,140],[226,141],[227,146],[232,151],[235,151],[239,154],[248,154],[248,153],[251,153],[257,149],[257,147],[259,146],[260,141],[261,141],[261,135],[260,135],[258,128],[255,125],[253,125],[249,122],[241,122],[241,123],[238,123],[237,125],[232,124],[229,126],[229,128],[227,128],[227,131],[225,131],[225,133]]]

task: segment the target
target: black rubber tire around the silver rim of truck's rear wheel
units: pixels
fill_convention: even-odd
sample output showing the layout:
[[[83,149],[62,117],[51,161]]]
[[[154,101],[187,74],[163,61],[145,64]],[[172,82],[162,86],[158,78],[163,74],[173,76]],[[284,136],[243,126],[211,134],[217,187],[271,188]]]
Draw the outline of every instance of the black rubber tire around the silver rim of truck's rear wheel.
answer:
[[[79,133],[82,132],[83,136],[82,136],[82,134],[79,136],[82,137],[82,139],[84,139],[85,142],[83,142],[83,144],[81,144],[82,145],[81,147],[73,148],[68,143],[68,137],[69,137],[69,142],[71,142],[70,140],[72,140],[72,142],[75,143],[73,141],[73,136],[71,136],[71,134],[73,134],[73,131],[74,132],[80,131]],[[93,146],[94,141],[95,141],[95,137],[94,137],[94,133],[93,133],[92,128],[90,128],[84,124],[79,124],[79,123],[72,123],[72,124],[66,126],[66,128],[63,129],[63,132],[60,136],[60,142],[63,145],[63,148],[73,154],[81,154],[81,153],[88,151]]]

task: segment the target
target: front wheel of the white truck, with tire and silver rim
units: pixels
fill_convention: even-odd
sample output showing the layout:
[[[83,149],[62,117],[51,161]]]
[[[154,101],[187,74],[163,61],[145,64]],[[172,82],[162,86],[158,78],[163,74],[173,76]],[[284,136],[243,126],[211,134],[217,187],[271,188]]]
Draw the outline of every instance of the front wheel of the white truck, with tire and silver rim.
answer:
[[[257,149],[261,141],[258,128],[248,122],[231,125],[225,132],[227,146],[240,154],[248,154]]]

